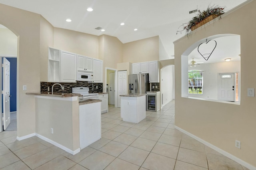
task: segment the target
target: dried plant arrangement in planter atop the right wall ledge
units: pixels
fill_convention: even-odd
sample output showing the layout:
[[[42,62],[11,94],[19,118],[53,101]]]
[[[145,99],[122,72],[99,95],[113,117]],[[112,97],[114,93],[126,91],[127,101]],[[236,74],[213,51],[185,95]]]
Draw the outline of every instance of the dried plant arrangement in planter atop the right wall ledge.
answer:
[[[207,22],[210,22],[211,20],[218,17],[218,19],[221,19],[221,15],[224,14],[224,8],[220,7],[218,5],[216,6],[208,6],[208,8],[204,11],[198,10],[198,14],[192,18],[188,23],[182,24],[183,30],[177,31],[182,32],[186,30],[186,34],[188,35],[191,31],[195,30],[196,28],[199,28],[200,26],[206,24]],[[179,27],[180,28],[180,27]]]

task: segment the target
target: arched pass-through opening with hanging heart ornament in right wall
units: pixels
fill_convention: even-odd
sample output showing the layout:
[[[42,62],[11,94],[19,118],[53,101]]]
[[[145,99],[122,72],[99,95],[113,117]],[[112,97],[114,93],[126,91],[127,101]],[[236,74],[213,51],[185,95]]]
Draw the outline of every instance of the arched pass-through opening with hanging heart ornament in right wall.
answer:
[[[216,48],[212,51],[209,59],[206,61],[200,53],[198,53],[198,45],[205,43],[206,40],[216,40]],[[231,42],[229,42],[231,40]],[[233,40],[233,42],[232,42]],[[234,45],[234,40],[236,44]],[[206,43],[205,43],[206,44]],[[230,45],[230,48],[228,45]],[[237,47],[236,47],[237,46]],[[233,50],[232,50],[233,49]],[[211,52],[212,49],[210,49]],[[237,51],[236,51],[237,50]],[[197,53],[195,53],[195,51]],[[235,52],[233,52],[235,51]],[[233,54],[234,53],[234,54]],[[236,54],[237,53],[237,54]],[[235,34],[219,34],[204,39],[199,40],[192,44],[181,56],[181,79],[182,79],[182,97],[191,97],[193,99],[205,99],[210,101],[225,101],[223,98],[220,98],[220,80],[218,79],[218,74],[220,73],[235,73],[236,77],[233,80],[234,91],[233,99],[236,101],[236,104],[240,102],[240,36]],[[232,58],[230,62],[224,61],[225,58]],[[202,61],[194,67],[190,67],[190,62],[192,59],[195,61]],[[191,61],[190,61],[191,60]],[[191,85],[188,82],[188,71],[190,70],[201,70],[202,71],[202,89],[201,93],[191,94],[190,89]],[[190,79],[191,81],[191,79]],[[237,82],[237,85],[236,85]],[[192,83],[193,84],[193,83]],[[190,85],[190,87],[189,87]],[[230,91],[232,93],[232,86],[230,86]],[[194,88],[194,87],[193,87]],[[228,100],[226,100],[228,101]],[[230,100],[231,101],[231,100]]]

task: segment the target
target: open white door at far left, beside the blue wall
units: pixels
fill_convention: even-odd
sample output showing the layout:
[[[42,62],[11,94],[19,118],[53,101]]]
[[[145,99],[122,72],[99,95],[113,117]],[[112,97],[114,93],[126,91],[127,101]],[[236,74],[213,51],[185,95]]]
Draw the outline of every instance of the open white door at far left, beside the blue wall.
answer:
[[[4,130],[10,124],[10,62],[3,58],[3,125]]]

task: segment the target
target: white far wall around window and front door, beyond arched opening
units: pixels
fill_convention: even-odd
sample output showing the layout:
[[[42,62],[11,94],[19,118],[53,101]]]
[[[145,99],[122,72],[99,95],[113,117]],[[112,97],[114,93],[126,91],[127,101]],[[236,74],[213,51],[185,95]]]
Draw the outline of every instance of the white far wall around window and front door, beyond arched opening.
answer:
[[[221,63],[200,64],[196,67],[189,67],[188,70],[201,70],[203,72],[203,95],[189,95],[204,99],[218,99],[218,73],[238,73],[240,78],[240,61],[229,61]],[[238,83],[240,89],[240,83]]]

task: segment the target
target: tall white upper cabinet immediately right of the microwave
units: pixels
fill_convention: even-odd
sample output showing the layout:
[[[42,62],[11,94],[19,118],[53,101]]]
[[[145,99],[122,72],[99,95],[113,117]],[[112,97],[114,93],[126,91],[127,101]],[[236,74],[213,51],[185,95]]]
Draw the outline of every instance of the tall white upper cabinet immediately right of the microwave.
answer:
[[[92,59],[93,63],[93,82],[103,83],[103,61],[100,59]]]

